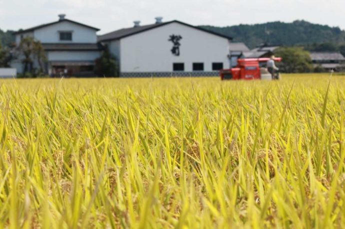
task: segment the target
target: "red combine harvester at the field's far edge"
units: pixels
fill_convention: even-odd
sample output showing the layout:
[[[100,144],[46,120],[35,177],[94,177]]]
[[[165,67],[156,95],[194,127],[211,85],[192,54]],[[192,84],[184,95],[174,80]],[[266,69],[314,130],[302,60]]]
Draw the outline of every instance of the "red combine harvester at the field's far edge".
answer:
[[[259,63],[267,62],[269,58],[244,58],[237,60],[237,66],[230,69],[220,70],[220,78],[224,79],[268,79],[271,75],[266,68],[260,68]],[[281,58],[274,58],[275,62],[280,62]],[[269,75],[268,75],[269,74]],[[279,79],[279,73],[276,79]]]

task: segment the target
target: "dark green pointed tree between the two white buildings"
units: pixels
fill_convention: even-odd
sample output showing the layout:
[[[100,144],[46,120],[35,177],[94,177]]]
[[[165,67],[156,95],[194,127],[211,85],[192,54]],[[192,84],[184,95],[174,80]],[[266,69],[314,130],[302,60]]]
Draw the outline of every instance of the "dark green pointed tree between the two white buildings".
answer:
[[[95,73],[98,76],[114,77],[118,76],[118,65],[115,56],[113,56],[107,46],[101,52],[100,57],[95,60]]]

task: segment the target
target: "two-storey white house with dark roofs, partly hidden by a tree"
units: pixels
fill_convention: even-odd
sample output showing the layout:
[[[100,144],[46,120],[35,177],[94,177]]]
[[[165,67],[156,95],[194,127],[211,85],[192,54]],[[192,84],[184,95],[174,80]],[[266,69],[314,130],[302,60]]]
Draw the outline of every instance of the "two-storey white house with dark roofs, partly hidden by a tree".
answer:
[[[39,40],[47,57],[44,70],[49,75],[88,76],[94,74],[94,60],[99,57],[101,50],[97,43],[98,30],[60,14],[58,21],[17,31],[15,42],[18,46],[25,36]],[[21,59],[18,57],[11,63],[18,73],[24,69]],[[33,63],[32,67],[37,67],[37,63]]]

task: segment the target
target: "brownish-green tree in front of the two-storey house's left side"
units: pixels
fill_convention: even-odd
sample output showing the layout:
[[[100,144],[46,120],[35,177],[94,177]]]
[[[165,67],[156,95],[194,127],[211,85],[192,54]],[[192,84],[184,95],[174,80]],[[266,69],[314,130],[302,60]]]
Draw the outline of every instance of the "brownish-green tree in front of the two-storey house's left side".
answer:
[[[38,74],[44,71],[43,64],[46,61],[46,56],[42,44],[34,40],[32,37],[27,36],[21,39],[17,48],[17,56],[22,57],[21,62],[24,64],[24,73],[30,72]],[[37,61],[39,68],[35,72],[33,63]]]

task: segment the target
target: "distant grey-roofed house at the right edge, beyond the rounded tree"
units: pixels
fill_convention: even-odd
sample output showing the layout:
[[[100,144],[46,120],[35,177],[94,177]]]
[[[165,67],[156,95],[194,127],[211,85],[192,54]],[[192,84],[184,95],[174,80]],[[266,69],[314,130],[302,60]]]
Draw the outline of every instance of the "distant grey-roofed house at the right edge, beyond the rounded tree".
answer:
[[[343,68],[345,63],[345,57],[340,52],[310,52],[310,58],[314,67],[319,65],[328,71]]]

